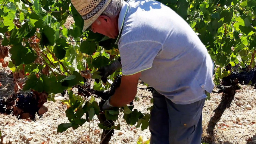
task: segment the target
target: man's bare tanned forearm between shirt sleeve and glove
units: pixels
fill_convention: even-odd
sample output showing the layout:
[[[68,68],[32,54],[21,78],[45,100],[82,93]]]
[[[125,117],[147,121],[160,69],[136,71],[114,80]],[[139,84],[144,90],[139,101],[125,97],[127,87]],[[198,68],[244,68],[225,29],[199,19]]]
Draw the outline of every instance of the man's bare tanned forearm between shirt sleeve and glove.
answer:
[[[130,103],[137,94],[140,75],[140,72],[134,75],[122,75],[120,87],[117,88],[115,94],[110,97],[109,103],[115,107],[123,107]]]

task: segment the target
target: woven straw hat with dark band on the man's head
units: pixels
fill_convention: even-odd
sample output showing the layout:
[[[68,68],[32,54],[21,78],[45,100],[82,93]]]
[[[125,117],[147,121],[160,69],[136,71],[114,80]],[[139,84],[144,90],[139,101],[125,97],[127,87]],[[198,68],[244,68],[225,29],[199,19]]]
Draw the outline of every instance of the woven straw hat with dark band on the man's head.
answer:
[[[102,14],[111,0],[71,0],[71,3],[84,19],[85,31]]]

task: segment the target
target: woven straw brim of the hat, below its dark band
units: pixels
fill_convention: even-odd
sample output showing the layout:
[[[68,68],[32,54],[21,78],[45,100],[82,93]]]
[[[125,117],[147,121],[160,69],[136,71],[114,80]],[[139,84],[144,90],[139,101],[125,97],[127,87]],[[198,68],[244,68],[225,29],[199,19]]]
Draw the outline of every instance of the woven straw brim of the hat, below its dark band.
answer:
[[[109,3],[112,0],[107,0],[106,3],[104,4],[104,6],[102,7],[102,9],[99,10],[99,12],[97,12],[94,16],[92,16],[91,18],[84,20],[84,27],[83,27],[83,32],[91,25],[93,24],[93,22],[96,21],[97,18],[99,18],[99,16],[103,13],[103,11],[106,9],[106,7],[109,5]]]

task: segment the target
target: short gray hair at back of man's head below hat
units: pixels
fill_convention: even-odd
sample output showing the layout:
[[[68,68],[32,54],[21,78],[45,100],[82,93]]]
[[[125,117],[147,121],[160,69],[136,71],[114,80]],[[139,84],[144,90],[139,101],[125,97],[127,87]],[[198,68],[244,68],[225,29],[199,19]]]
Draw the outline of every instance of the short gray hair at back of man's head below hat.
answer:
[[[112,0],[103,11],[102,15],[109,16],[110,18],[116,17],[122,9],[123,3],[124,0]]]

